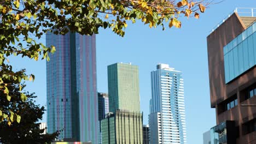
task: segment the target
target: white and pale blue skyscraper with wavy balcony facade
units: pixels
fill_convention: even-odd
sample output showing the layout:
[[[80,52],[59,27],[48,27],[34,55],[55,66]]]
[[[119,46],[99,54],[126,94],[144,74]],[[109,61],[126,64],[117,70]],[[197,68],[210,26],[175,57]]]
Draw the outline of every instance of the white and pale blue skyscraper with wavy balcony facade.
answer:
[[[151,72],[150,143],[187,143],[182,72],[158,64]]]

